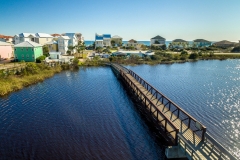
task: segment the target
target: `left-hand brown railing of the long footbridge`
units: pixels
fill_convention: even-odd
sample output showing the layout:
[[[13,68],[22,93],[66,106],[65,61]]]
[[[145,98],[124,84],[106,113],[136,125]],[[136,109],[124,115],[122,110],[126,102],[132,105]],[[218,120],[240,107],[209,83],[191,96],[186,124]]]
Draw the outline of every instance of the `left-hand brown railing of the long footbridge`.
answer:
[[[125,81],[130,85],[134,91],[137,93],[137,95],[140,97],[142,102],[146,107],[148,107],[149,111],[151,114],[155,115],[155,120],[157,121],[158,125],[162,127],[165,133],[167,133],[168,137],[171,139],[173,144],[177,144],[178,136],[177,134],[179,133],[179,128],[176,127],[172,121],[167,118],[162,111],[160,111],[155,104],[147,97],[145,94],[134,84],[127,76],[126,72],[120,69],[120,74],[121,76],[125,79]]]

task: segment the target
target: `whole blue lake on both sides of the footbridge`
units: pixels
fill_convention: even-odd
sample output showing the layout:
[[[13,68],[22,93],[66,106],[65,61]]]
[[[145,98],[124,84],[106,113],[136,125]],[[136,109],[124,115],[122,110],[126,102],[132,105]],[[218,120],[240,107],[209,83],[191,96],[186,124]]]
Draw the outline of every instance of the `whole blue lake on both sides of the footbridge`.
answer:
[[[127,66],[240,156],[240,60]],[[2,159],[164,159],[110,67],[64,71],[0,98]]]

